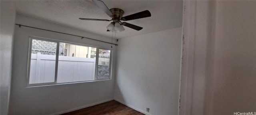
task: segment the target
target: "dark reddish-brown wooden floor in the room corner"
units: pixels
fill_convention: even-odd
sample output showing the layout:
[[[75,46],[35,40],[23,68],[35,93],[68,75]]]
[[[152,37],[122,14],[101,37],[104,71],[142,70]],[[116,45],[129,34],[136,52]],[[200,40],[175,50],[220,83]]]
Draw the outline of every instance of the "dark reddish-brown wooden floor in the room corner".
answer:
[[[79,109],[62,115],[144,115],[117,101],[108,101],[92,107]]]

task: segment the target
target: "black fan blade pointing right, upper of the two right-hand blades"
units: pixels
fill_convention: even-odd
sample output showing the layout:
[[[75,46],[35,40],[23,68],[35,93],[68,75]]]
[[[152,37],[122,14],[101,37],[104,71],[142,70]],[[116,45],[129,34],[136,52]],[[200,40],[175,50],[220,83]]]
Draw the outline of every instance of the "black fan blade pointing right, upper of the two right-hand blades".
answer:
[[[139,19],[139,18],[146,18],[146,17],[150,17],[150,16],[151,16],[151,13],[148,10],[145,10],[145,11],[131,14],[128,16],[124,16],[124,17],[122,17],[122,20],[128,21],[128,20],[134,20],[134,19]]]

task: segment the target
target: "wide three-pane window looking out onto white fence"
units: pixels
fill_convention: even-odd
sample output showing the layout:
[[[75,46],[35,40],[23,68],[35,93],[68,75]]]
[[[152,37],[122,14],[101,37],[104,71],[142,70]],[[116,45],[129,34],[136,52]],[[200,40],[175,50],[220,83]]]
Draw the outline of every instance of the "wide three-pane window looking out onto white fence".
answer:
[[[111,79],[111,50],[30,38],[28,86]]]

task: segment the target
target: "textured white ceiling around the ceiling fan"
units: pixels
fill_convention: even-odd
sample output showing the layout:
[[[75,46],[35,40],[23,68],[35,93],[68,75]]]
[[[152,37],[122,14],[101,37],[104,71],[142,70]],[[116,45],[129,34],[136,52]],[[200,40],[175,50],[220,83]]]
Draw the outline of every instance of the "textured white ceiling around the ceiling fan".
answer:
[[[182,26],[182,3],[183,1],[167,0],[104,0],[108,8],[121,8],[124,16],[149,10],[151,17],[126,21],[130,24],[143,27],[137,31],[124,26],[126,30],[116,34],[116,38],[126,38],[157,32]],[[93,4],[91,0],[74,1],[15,1],[18,14],[45,20],[55,24],[84,30],[94,34],[111,37],[111,32],[106,32],[106,26],[110,22],[87,21],[78,18],[110,19],[101,9]]]

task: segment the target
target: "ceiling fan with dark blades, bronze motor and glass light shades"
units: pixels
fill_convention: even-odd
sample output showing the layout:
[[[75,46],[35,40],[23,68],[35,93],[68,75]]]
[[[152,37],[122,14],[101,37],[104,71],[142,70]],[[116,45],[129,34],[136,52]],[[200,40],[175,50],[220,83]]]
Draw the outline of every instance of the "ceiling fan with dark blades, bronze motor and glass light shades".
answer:
[[[79,18],[79,19],[80,20],[94,20],[94,21],[108,21],[108,22],[113,21],[107,26],[107,28],[108,28],[107,31],[111,31],[111,32],[122,32],[125,30],[123,26],[126,26],[126,27],[129,27],[129,28],[139,31],[142,29],[142,27],[136,26],[133,24],[129,24],[126,22],[121,22],[121,21],[135,20],[135,19],[146,18],[146,17],[151,16],[150,12],[148,10],[145,10],[142,12],[138,12],[138,13],[123,17],[124,11],[120,8],[111,8],[109,10],[108,7],[106,6],[106,4],[104,4],[104,2],[102,2],[101,0],[92,0],[92,2],[94,2],[94,4],[96,6],[98,6],[101,10],[103,10],[106,14],[108,14],[108,16],[110,16],[111,20],[91,19],[91,18]]]

